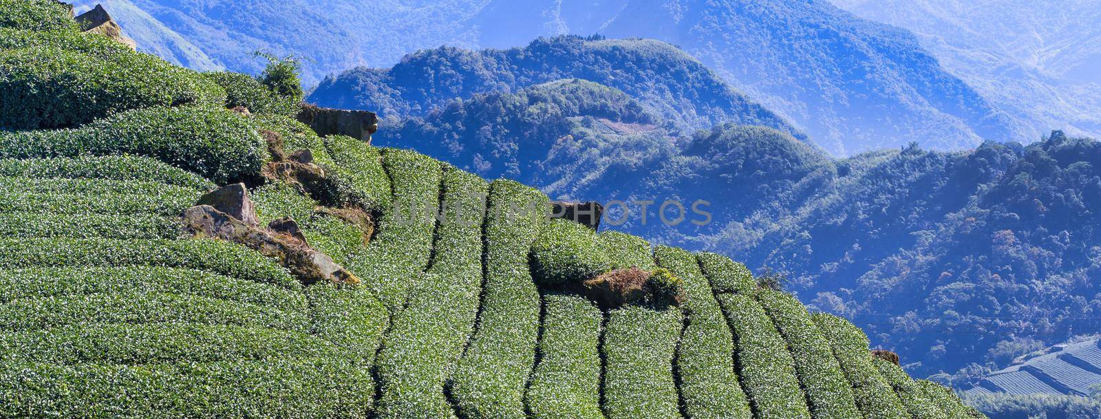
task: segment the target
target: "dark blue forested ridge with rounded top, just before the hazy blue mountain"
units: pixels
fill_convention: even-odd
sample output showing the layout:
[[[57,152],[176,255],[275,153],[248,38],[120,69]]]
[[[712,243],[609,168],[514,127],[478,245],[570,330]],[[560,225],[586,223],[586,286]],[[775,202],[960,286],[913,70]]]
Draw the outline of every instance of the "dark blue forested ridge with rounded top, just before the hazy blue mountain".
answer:
[[[396,122],[455,98],[510,92],[565,78],[622,90],[659,114],[661,124],[678,130],[733,122],[806,137],[695,58],[647,40],[559,36],[538,38],[523,48],[421,51],[389,69],[357,68],[326,78],[307,100],[341,109],[371,109]]]

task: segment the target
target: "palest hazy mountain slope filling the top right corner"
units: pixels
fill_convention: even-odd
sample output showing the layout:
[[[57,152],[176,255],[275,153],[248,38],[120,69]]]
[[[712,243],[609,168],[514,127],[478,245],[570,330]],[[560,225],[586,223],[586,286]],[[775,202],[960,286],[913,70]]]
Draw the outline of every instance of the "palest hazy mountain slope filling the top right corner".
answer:
[[[1027,126],[1101,134],[1101,7],[1093,1],[836,0],[917,35],[953,75]],[[1038,136],[1040,132],[1036,132]]]

